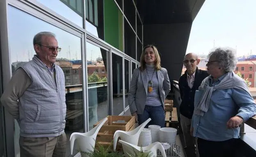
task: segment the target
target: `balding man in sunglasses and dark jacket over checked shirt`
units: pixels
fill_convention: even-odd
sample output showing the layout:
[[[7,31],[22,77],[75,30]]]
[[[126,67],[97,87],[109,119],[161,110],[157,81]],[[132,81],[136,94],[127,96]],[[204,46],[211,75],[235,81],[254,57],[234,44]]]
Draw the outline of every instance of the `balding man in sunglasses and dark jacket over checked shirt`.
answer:
[[[187,157],[195,156],[194,137],[190,135],[190,126],[194,111],[194,95],[198,90],[201,82],[208,76],[207,71],[197,68],[200,60],[194,53],[185,55],[183,63],[186,67],[185,73],[179,79],[179,89],[181,94],[180,117],[181,128],[183,130],[184,140],[186,143]]]

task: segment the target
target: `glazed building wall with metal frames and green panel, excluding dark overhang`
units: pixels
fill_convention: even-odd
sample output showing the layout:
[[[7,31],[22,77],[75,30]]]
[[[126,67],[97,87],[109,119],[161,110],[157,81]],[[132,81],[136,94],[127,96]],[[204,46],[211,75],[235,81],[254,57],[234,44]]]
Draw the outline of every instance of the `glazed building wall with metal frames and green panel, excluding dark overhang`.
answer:
[[[133,0],[1,0],[0,10],[1,92],[12,73],[35,55],[34,35],[50,31],[62,48],[56,64],[66,81],[67,139],[107,115],[128,110],[124,92],[143,45],[142,20]],[[104,82],[89,83],[94,72]],[[0,157],[19,157],[18,123],[2,106],[0,116]],[[66,156],[72,156],[69,146]]]

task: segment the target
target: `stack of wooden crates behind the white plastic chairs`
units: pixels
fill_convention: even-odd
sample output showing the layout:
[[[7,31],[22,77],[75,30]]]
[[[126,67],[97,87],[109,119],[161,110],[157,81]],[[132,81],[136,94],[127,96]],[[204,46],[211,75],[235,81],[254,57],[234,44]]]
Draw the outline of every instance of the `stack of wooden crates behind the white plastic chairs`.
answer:
[[[107,122],[101,127],[97,137],[96,142],[104,147],[111,146],[113,149],[113,138],[114,133],[117,130],[130,131],[136,128],[135,117],[134,116],[107,116]],[[117,123],[118,121],[124,121],[124,123]],[[99,122],[94,124],[94,127],[98,125]],[[96,146],[97,148],[97,146]],[[117,143],[117,151],[122,151],[122,145]]]

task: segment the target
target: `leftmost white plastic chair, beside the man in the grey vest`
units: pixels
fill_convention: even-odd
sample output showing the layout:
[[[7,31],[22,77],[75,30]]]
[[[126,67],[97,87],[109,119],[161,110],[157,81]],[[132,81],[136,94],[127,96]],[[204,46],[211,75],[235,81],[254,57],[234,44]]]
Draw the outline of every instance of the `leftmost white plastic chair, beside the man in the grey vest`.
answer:
[[[86,133],[72,133],[69,139],[71,155],[73,154],[74,142],[76,139],[78,140],[78,147],[80,151],[83,151],[83,152],[89,152],[90,150],[94,151],[97,134],[106,121],[107,121],[107,118],[102,119],[97,126],[95,126],[94,128],[92,128]],[[86,155],[83,153],[81,153],[81,155],[82,157],[86,157]]]

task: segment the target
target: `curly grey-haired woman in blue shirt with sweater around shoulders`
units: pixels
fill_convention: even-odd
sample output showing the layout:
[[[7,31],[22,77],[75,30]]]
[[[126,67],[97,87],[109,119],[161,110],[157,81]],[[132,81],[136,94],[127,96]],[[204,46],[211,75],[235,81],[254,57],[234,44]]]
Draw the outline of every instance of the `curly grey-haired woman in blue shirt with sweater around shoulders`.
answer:
[[[234,51],[217,48],[208,56],[210,76],[199,87],[202,95],[195,104],[191,132],[200,157],[235,157],[239,126],[256,114],[256,104],[245,81],[233,72]]]

